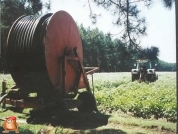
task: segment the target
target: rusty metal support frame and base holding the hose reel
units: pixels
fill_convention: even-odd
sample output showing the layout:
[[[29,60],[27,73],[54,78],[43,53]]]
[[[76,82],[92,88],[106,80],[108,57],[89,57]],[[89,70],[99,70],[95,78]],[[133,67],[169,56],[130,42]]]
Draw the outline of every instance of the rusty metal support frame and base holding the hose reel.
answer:
[[[66,84],[67,84],[67,66],[73,69],[76,78],[74,79],[74,86],[72,89],[67,89],[66,91]],[[86,70],[89,70],[86,72]],[[87,75],[92,75],[92,86],[93,86],[93,73],[98,71],[99,67],[83,67],[83,64],[81,62],[81,59],[79,59],[78,53],[77,53],[77,47],[74,47],[71,51],[67,51],[67,48],[64,50],[64,56],[62,58],[62,95],[60,99],[63,99],[66,101],[69,108],[73,108],[74,105],[80,105],[80,103],[76,100],[71,100],[76,97],[78,93],[78,87],[80,83],[80,78],[82,77],[84,87],[87,89],[88,92],[92,93],[90,89],[90,85],[87,79]],[[69,78],[69,74],[68,74]],[[5,95],[6,93],[6,83],[5,81],[2,82],[2,95]],[[73,92],[73,94],[71,94]],[[8,97],[5,96],[3,100],[3,107],[5,107],[5,104],[10,104],[15,107],[21,107],[21,108],[44,108],[47,104],[40,101],[43,98],[38,97],[24,97],[23,92],[19,92],[18,90],[15,91],[12,89],[12,92],[8,93]],[[48,95],[54,94],[53,91],[46,92]],[[93,94],[94,94],[94,86],[93,86]],[[57,98],[59,99],[57,96]],[[50,101],[50,100],[49,100]],[[55,100],[54,100],[55,101]],[[57,101],[57,99],[56,99]],[[75,104],[74,104],[75,102]],[[71,106],[70,106],[71,105]]]

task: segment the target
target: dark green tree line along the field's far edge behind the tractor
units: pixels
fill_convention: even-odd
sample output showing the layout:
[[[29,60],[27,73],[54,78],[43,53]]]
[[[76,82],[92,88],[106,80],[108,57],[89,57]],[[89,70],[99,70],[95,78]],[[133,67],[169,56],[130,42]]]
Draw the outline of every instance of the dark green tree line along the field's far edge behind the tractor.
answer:
[[[149,59],[157,63],[158,71],[175,71],[174,63],[158,59],[159,48],[130,48],[119,39],[113,39],[110,33],[104,34],[98,28],[78,26],[84,53],[84,66],[98,66],[101,72],[130,71],[137,59]]]

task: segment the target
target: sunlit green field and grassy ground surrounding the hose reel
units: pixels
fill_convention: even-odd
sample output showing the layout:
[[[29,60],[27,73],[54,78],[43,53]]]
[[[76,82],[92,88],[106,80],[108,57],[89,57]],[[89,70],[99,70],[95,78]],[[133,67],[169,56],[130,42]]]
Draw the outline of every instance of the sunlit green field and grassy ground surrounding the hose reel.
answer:
[[[70,125],[74,122],[75,125],[66,127],[59,124],[54,128],[63,130],[61,133],[76,134],[176,133],[176,72],[157,74],[156,82],[138,83],[138,81],[131,82],[130,72],[95,73],[94,95],[100,114],[74,113],[75,116],[69,114],[59,120],[66,120]],[[88,79],[93,90],[91,75],[88,75]],[[0,86],[3,80],[6,81],[8,88],[14,86],[10,75],[0,74]],[[1,112],[0,117],[15,115],[17,118],[27,119],[28,112],[29,109],[25,109],[22,113],[14,113],[7,107],[7,111]],[[19,131],[33,134],[41,128],[48,128],[48,125],[49,123],[20,124]]]

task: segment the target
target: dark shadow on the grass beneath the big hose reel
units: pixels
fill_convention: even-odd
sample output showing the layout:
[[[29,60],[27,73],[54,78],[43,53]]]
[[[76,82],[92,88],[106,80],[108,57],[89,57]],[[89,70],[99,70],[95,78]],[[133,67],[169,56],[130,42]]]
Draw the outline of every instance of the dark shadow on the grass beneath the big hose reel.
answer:
[[[109,115],[101,113],[80,113],[78,111],[58,112],[57,114],[33,111],[27,119],[29,124],[51,124],[72,129],[92,129],[108,124]]]

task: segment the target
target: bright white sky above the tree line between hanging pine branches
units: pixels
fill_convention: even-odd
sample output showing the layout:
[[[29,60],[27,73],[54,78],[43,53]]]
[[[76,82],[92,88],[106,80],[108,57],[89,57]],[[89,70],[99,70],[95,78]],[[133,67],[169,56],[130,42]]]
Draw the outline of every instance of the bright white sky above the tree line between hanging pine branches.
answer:
[[[42,0],[43,2],[47,0]],[[88,0],[51,0],[51,11],[55,13],[59,10],[67,11],[73,19],[84,27],[98,28],[104,33],[118,34],[122,29],[114,26],[112,22],[114,17],[110,12],[102,7],[97,7],[90,0],[92,11],[101,14],[97,24],[93,25],[89,18],[90,9]],[[159,47],[159,59],[175,63],[176,62],[176,28],[175,28],[175,5],[171,10],[163,7],[161,0],[156,2],[147,9],[141,4],[138,8],[142,11],[141,16],[146,18],[147,36],[140,39],[142,47],[156,46]],[[115,38],[120,38],[114,36]]]

